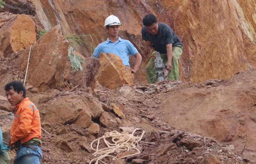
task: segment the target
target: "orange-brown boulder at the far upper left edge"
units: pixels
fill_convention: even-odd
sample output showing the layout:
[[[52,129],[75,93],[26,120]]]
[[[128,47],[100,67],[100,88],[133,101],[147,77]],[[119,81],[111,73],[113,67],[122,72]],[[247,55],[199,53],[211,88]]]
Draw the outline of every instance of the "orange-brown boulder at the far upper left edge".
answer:
[[[0,51],[4,57],[28,48],[35,41],[35,23],[28,15],[16,15],[0,29]]]

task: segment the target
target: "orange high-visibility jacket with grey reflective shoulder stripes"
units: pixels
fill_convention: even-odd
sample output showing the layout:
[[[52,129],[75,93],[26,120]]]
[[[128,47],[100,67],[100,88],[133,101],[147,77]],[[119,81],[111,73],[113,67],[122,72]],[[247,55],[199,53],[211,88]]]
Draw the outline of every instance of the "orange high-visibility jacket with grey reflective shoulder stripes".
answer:
[[[41,139],[40,116],[36,105],[26,97],[15,109],[10,130],[11,144],[18,140],[25,143],[35,137]]]

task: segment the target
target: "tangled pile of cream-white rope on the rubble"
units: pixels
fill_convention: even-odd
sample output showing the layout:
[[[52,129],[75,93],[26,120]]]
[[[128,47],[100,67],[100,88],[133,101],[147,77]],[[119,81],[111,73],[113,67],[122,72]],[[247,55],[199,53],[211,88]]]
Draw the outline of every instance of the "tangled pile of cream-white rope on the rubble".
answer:
[[[132,155],[140,154],[140,150],[137,149],[136,146],[138,145],[138,142],[142,139],[143,135],[145,134],[145,131],[142,132],[141,136],[133,136],[134,133],[137,130],[140,130],[140,129],[138,129],[138,128],[135,129],[132,132],[132,134],[124,133],[124,132],[119,133],[115,130],[115,131],[112,131],[112,132],[107,132],[107,133],[104,134],[104,136],[92,141],[91,148],[92,148],[92,150],[96,151],[92,155],[94,155],[94,156],[100,155],[99,157],[96,157],[96,158],[93,159],[93,160],[96,160],[95,164],[98,164],[99,161],[103,162],[102,159],[105,158],[105,157],[113,157],[118,162],[118,159],[122,159],[122,158],[126,158],[126,157],[129,157],[129,156],[132,156]],[[111,141],[113,143],[108,142],[106,140],[106,138],[110,138],[110,139],[112,138]],[[102,149],[99,150],[100,139],[104,140],[107,147],[102,148]],[[92,144],[96,141],[98,141],[98,142],[97,142],[96,148],[94,149],[92,147]],[[120,158],[116,158],[113,155],[109,155],[109,154],[119,153],[121,151],[123,151],[123,152],[124,151],[129,151],[130,149],[135,149],[137,151],[137,153],[126,155],[126,156],[120,157]],[[91,164],[93,160],[91,160],[89,164]],[[103,163],[106,164],[105,162],[103,162]]]

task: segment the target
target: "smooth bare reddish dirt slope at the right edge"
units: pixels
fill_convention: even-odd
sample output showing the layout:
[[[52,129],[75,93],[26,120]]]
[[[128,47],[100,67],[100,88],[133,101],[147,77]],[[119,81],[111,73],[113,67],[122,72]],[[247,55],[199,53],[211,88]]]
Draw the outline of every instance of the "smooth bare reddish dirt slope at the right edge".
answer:
[[[212,80],[202,88],[176,88],[161,104],[167,113],[164,118],[176,129],[230,142],[237,152],[242,152],[246,143],[244,155],[256,162],[255,75],[253,69],[227,82]]]

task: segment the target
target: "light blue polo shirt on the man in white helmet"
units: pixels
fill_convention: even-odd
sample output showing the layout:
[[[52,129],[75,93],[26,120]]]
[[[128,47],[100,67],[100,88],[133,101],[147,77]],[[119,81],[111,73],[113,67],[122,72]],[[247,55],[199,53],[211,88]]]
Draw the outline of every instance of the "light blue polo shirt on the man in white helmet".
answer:
[[[103,43],[100,43],[95,48],[92,57],[98,58],[101,52],[113,53],[122,59],[124,65],[130,65],[129,54],[135,55],[138,53],[138,50],[133,46],[130,41],[118,37],[118,40],[115,43],[113,41],[110,41],[109,39],[107,39],[107,41],[104,41]]]

